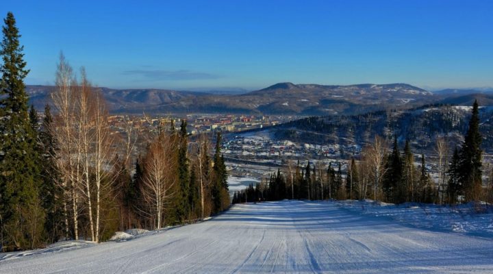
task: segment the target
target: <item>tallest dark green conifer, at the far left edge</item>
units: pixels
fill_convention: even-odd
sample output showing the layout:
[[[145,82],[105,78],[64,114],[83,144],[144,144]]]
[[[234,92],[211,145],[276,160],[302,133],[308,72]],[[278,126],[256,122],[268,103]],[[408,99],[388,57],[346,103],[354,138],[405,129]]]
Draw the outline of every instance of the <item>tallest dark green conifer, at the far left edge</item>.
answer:
[[[0,55],[0,215],[4,250],[39,247],[44,223],[40,207],[40,161],[27,112],[23,46],[8,12],[2,27]]]

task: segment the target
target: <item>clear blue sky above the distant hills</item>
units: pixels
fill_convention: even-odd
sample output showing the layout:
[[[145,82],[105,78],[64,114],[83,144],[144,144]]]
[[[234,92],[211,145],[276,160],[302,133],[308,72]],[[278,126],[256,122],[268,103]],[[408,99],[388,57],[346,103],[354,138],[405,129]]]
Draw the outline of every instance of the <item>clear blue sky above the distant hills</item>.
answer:
[[[493,86],[489,0],[3,0],[8,11],[27,84],[53,84],[63,51],[111,88]]]

